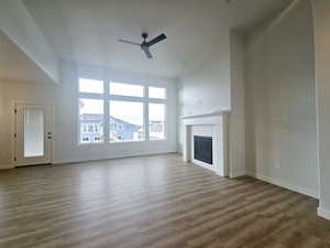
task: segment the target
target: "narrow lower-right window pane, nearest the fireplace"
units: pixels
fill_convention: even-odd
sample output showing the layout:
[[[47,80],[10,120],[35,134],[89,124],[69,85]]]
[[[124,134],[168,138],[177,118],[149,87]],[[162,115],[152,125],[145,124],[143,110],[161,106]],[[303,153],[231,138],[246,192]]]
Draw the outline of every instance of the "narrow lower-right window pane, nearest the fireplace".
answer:
[[[150,140],[165,139],[165,111],[164,104],[148,104]]]

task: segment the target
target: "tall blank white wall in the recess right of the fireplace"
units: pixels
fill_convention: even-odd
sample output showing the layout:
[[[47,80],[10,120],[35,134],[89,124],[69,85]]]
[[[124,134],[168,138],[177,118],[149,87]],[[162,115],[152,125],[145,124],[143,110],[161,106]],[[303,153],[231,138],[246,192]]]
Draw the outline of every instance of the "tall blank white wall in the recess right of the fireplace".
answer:
[[[246,166],[260,179],[317,197],[312,11],[307,0],[292,7],[249,42]]]

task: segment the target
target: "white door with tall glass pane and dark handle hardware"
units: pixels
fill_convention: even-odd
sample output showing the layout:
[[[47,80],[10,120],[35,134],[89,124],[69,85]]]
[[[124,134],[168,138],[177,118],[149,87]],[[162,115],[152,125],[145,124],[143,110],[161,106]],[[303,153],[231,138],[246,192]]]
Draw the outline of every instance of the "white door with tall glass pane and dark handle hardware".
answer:
[[[16,166],[52,163],[53,108],[15,105]]]

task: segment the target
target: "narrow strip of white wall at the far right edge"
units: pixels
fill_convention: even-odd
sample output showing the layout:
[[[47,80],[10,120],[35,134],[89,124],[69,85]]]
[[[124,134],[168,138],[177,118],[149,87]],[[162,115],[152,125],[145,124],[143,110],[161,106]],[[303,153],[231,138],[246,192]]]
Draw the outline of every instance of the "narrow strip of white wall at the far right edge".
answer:
[[[315,0],[314,4],[320,176],[319,214],[330,219],[330,1]]]

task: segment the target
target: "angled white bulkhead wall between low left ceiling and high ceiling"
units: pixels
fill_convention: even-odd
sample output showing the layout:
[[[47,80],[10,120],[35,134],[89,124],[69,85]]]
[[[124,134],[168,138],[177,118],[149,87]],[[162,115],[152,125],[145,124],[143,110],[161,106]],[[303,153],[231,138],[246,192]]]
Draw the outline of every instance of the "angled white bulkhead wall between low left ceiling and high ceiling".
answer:
[[[21,0],[0,1],[0,30],[54,82],[59,79],[59,58]]]

